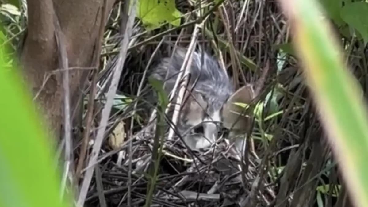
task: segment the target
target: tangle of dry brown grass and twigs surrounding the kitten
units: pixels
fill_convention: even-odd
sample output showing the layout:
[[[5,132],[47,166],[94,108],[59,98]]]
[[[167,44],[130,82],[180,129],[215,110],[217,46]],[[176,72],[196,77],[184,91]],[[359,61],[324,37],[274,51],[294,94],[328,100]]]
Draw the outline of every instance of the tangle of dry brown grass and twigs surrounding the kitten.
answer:
[[[154,135],[146,130],[147,125],[150,126],[152,108],[146,103],[144,74],[160,57],[170,55],[173,45],[189,44],[198,19],[191,13],[197,5],[177,0],[177,7],[188,14],[180,28],[164,25],[148,32],[138,21],[134,26],[118,87],[118,94],[126,97],[120,99],[125,106],[113,107],[98,168],[89,186],[88,206],[127,206],[127,202],[131,206],[143,206],[145,203],[145,172],[151,161]],[[123,9],[123,4],[117,2],[106,25],[89,136],[92,140],[116,65],[121,43],[120,25],[126,18],[121,16]],[[242,160],[234,155],[225,140],[201,152],[190,151],[180,142],[166,141],[153,206],[316,206],[316,187],[322,184],[329,184],[330,188],[342,185],[339,197],[333,196],[335,192],[322,194],[322,199],[328,203],[326,206],[347,205],[343,199],[345,187],[337,167],[330,165],[334,159],[325,143],[308,90],[302,83],[297,59],[290,55],[280,57],[276,47],[289,41],[288,25],[273,0],[226,0],[209,15],[198,36],[198,44],[219,58],[237,87],[245,83],[259,85],[257,80],[269,63],[270,69],[258,97],[266,106],[258,117],[259,122],[253,124]],[[344,39],[342,43],[350,45],[345,47],[351,55],[347,62],[367,88],[364,75],[367,50],[355,40]],[[86,87],[84,94],[90,89]],[[278,94],[276,102],[282,113],[266,119],[270,115],[270,103],[266,99],[269,93]],[[86,110],[80,116],[85,119],[85,114]],[[73,126],[74,129],[85,127],[85,122],[82,126]],[[124,125],[119,126],[123,127],[113,131],[121,123]],[[120,145],[109,144],[112,134],[124,137],[124,140],[117,138]],[[74,154],[78,158],[81,133],[75,133],[74,137]],[[128,140],[132,143],[130,156]],[[131,183],[129,187],[128,183]]]

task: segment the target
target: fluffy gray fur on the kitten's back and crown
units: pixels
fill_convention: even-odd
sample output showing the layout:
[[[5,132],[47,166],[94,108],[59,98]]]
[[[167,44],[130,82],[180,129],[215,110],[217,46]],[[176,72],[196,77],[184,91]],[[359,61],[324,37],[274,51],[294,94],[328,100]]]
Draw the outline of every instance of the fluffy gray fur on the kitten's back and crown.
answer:
[[[152,76],[165,81],[165,90],[170,92],[175,84],[181,65],[184,62],[186,49],[178,48],[170,60],[170,57],[162,59],[160,64],[154,69]],[[190,83],[192,87],[196,79],[198,81],[194,87],[195,92],[201,94],[205,101],[208,101],[209,112],[220,110],[230,95],[234,92],[233,85],[227,73],[220,68],[216,59],[204,52],[203,64],[201,67],[201,51],[193,54],[192,66],[190,67]],[[165,80],[166,73],[168,79]]]

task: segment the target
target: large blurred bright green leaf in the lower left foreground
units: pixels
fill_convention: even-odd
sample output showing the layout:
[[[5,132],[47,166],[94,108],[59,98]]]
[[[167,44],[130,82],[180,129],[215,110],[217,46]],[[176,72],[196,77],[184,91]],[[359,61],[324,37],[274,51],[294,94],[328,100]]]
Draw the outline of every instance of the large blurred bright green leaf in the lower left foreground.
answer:
[[[1,56],[6,48],[0,47]],[[0,59],[0,206],[62,207],[52,138],[16,71]]]

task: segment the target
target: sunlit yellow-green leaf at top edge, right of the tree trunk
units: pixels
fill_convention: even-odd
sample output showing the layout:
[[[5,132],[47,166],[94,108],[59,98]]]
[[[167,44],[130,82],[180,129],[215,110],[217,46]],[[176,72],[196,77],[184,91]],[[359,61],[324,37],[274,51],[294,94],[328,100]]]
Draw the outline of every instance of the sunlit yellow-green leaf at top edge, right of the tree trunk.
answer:
[[[175,7],[175,0],[139,0],[137,17],[147,29],[159,28],[169,22],[180,25],[181,13]]]

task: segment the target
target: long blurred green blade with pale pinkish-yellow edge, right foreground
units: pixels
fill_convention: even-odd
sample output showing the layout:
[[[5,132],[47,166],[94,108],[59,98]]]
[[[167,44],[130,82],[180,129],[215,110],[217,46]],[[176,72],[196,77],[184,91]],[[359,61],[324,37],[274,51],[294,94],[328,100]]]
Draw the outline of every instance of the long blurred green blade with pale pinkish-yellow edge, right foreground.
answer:
[[[315,0],[280,0],[329,142],[356,206],[368,206],[368,120],[357,80],[345,68]],[[358,29],[358,28],[357,28]],[[364,36],[364,34],[363,34]]]

